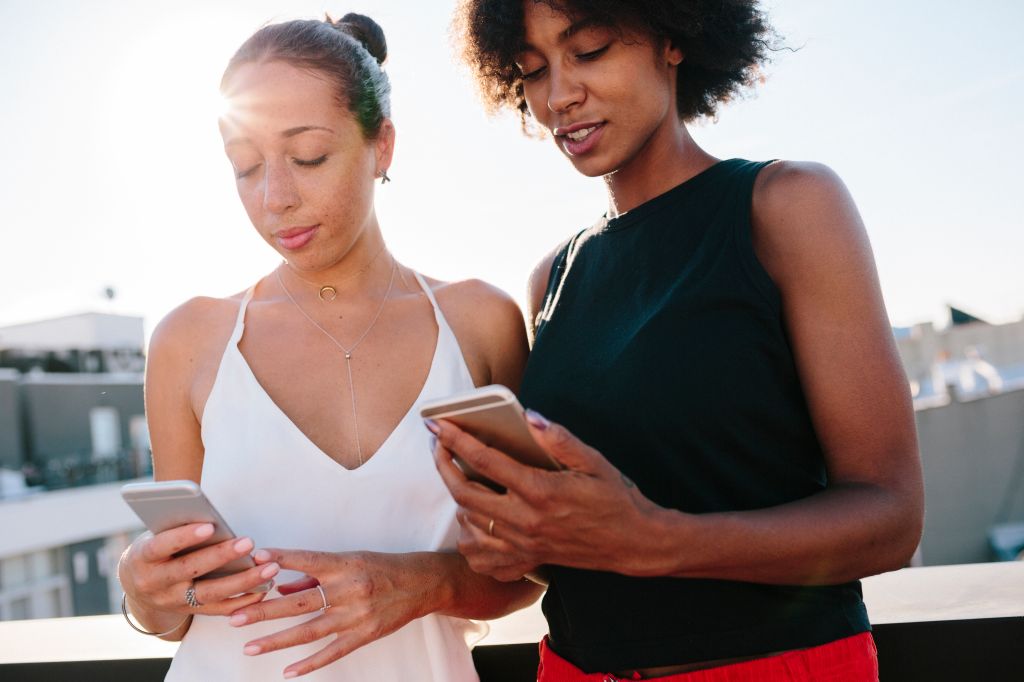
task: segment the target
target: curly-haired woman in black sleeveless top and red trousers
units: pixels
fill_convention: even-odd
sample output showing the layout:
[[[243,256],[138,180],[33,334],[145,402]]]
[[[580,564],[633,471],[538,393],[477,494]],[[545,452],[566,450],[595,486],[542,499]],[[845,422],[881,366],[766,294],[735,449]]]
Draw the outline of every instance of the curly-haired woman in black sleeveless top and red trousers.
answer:
[[[863,225],[829,169],[719,161],[686,128],[755,79],[756,3],[460,16],[487,102],[608,187],[530,281],[521,399],[566,471],[428,423],[471,566],[550,579],[541,679],[873,679],[857,581],[906,564],[923,486]]]

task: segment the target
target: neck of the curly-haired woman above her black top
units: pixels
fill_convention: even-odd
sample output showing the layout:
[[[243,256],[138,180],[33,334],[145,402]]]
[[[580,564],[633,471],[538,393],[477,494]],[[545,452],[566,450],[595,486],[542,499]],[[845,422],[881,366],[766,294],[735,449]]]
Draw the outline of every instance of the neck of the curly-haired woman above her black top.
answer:
[[[614,218],[685,182],[718,161],[682,122],[659,127],[623,166],[604,176],[608,217]]]

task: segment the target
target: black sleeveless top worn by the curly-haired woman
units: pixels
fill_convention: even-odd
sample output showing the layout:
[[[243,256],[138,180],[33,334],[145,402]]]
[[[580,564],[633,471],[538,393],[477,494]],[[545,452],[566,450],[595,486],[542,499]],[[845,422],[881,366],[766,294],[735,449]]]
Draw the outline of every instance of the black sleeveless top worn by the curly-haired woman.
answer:
[[[663,507],[759,509],[825,486],[779,294],[752,244],[765,165],[720,162],[580,232],[552,266],[521,400]],[[870,629],[857,582],[550,571],[551,646],[587,672],[758,655]]]

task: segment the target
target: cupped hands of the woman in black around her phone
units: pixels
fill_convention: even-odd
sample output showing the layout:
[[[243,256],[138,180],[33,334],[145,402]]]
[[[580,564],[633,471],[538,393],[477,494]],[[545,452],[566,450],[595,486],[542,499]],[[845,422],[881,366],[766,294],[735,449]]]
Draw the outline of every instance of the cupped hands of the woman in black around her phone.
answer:
[[[459,551],[470,567],[501,581],[549,563],[649,574],[652,538],[645,526],[664,510],[601,453],[564,427],[527,415],[535,440],[562,471],[524,466],[451,422],[427,424],[437,437],[437,469],[461,508]],[[453,454],[507,492],[468,480]]]

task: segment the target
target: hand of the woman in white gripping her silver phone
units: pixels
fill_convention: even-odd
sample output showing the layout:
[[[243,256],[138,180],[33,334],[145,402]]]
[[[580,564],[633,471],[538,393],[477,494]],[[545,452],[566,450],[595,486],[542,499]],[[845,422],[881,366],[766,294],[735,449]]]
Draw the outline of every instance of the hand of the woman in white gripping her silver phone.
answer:
[[[151,632],[165,632],[195,613],[226,615],[261,601],[266,592],[251,590],[278,574],[276,563],[253,566],[223,578],[197,580],[225,563],[249,554],[253,542],[234,538],[182,556],[174,555],[206,541],[213,535],[211,523],[188,523],[157,535],[144,532],[121,557],[118,577],[129,600],[132,615]],[[199,606],[185,601],[195,588]],[[238,596],[236,596],[238,595]]]

